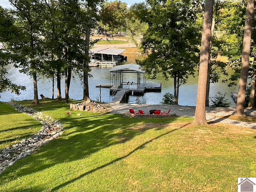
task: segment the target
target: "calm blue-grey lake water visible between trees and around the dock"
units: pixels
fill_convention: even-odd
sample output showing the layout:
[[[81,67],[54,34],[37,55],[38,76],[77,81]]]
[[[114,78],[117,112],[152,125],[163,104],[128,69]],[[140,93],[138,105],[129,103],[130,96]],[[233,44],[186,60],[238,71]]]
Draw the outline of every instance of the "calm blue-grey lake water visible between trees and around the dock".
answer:
[[[135,63],[135,59],[143,59],[142,55],[127,55],[128,60],[123,62],[123,64]],[[97,67],[92,68],[90,74],[92,74],[92,78],[89,78],[89,94],[90,99],[99,101],[100,100],[100,88],[96,88],[96,85],[100,84],[108,84],[110,80],[110,70],[109,67]],[[10,100],[32,100],[34,98],[33,91],[33,81],[26,74],[21,74],[18,69],[13,66],[8,66],[8,78],[12,80],[12,82],[16,84],[20,84],[26,86],[26,91],[22,91],[19,96],[12,94],[10,92],[1,93],[0,101],[9,102]],[[164,78],[159,75],[156,80],[147,80],[147,83],[162,83],[162,92],[148,92],[145,93],[144,96],[130,96],[129,103],[140,103],[140,104],[160,104],[162,98],[166,92],[170,92],[173,94],[173,79],[168,81],[164,80]],[[190,77],[187,81],[187,84],[180,86],[179,92],[179,105],[182,106],[196,106],[196,97],[197,97],[197,86],[198,84],[198,76]],[[226,93],[226,99],[230,102],[231,106],[235,106],[230,94],[231,92],[237,92],[237,87],[228,87],[228,83],[215,83],[210,84],[210,97],[214,97],[217,92],[221,92],[222,94]],[[64,80],[62,80],[62,97],[65,96],[65,84]],[[55,84],[55,95],[56,98],[56,84]],[[83,97],[83,88],[82,82],[80,78],[76,76],[74,79],[72,78],[70,84],[70,98],[74,100],[81,100]],[[51,80],[44,80],[42,78],[38,79],[38,95],[43,94],[46,97],[52,98],[52,82]],[[112,96],[109,95],[108,88],[101,88],[101,101],[109,103],[112,100]],[[39,98],[41,98],[39,96]]]

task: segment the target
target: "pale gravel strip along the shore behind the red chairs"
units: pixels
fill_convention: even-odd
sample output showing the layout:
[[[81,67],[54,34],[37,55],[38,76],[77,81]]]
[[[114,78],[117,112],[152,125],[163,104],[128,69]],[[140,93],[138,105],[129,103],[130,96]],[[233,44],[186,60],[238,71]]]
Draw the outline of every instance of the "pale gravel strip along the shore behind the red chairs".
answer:
[[[102,104],[105,108],[108,108],[113,114],[125,114],[129,112],[130,108],[133,108],[135,112],[139,109],[143,110],[145,113],[149,113],[149,110],[159,109],[161,111],[167,112],[171,109],[171,114],[176,114],[177,116],[187,116],[194,117],[196,107],[194,106],[179,106],[179,105],[141,105],[141,104]],[[242,126],[256,129],[256,123],[252,122],[242,122],[237,120],[228,119],[229,116],[234,114],[236,108],[233,107],[207,107],[206,108],[206,120],[208,123],[224,123],[235,126]],[[245,109],[246,116],[256,117],[256,110]]]

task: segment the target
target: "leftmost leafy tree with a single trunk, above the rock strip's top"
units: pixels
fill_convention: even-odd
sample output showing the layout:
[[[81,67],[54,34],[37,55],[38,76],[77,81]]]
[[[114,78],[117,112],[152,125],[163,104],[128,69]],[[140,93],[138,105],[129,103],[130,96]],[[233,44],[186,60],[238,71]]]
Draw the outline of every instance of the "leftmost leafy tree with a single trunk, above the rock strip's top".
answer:
[[[8,44],[6,50],[11,53],[8,59],[15,67],[21,68],[21,72],[32,76],[34,84],[32,103],[38,104],[37,72],[41,69],[42,56],[42,39],[39,35],[42,25],[40,18],[42,4],[36,0],[9,0],[9,2],[14,7],[12,14],[20,33],[6,42]]]

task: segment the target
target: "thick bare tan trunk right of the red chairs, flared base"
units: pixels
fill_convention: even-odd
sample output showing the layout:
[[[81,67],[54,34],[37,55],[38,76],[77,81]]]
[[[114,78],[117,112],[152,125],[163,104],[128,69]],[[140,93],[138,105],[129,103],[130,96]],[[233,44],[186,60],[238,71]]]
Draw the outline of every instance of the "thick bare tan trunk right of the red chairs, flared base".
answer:
[[[204,11],[204,24],[202,32],[201,53],[200,53],[200,66],[198,77],[198,92],[194,124],[206,125],[205,117],[205,102],[206,102],[206,86],[208,76],[208,59],[210,55],[210,38],[212,28],[214,0],[206,0]]]

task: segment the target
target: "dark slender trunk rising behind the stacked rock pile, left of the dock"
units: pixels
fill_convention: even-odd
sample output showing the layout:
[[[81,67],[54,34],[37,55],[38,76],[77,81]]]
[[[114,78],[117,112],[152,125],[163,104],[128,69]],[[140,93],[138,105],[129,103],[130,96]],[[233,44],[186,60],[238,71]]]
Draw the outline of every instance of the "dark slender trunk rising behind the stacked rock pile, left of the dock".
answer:
[[[86,59],[84,60],[84,96],[83,96],[83,100],[90,102],[90,97],[89,97],[89,83],[88,83],[88,69],[89,69],[89,65],[88,65],[88,59],[89,59],[89,43],[90,43],[90,33],[91,33],[91,29],[90,27],[88,27],[86,29],[86,37],[85,37],[85,50],[84,50],[84,54]]]

